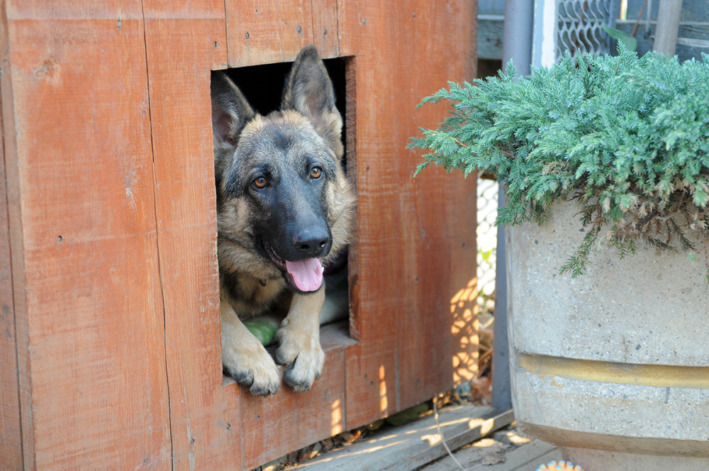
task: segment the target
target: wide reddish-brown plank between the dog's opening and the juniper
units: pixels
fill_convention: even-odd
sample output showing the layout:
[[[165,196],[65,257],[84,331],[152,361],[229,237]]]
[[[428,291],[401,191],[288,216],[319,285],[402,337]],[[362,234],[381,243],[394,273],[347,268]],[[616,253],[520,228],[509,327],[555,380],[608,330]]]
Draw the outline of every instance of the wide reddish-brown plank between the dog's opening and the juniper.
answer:
[[[414,180],[420,154],[405,147],[418,126],[445,117],[444,106],[415,111],[420,99],[474,77],[476,11],[474,2],[423,0],[340,0],[337,11],[340,53],[356,56],[357,70],[352,428],[447,389],[453,358],[475,354],[472,333],[467,343],[451,337],[450,302],[475,277],[474,183],[438,169]]]

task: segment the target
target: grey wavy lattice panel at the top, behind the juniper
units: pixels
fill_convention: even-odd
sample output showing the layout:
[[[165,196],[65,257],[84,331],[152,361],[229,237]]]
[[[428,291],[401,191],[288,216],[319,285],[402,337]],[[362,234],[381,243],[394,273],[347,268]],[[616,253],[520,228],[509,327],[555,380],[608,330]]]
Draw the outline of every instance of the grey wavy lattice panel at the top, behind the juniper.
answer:
[[[601,25],[610,18],[610,0],[558,0],[556,60],[565,50],[579,53],[609,52],[608,35]]]

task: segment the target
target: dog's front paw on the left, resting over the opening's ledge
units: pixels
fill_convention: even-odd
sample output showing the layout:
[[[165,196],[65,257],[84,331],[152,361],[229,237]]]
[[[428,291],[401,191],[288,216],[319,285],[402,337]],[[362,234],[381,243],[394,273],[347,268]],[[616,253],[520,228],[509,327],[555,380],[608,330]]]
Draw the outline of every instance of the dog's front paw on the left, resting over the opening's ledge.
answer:
[[[223,345],[224,371],[239,384],[250,387],[251,394],[275,394],[281,389],[278,367],[263,345],[254,340],[241,344],[230,341],[230,345]]]

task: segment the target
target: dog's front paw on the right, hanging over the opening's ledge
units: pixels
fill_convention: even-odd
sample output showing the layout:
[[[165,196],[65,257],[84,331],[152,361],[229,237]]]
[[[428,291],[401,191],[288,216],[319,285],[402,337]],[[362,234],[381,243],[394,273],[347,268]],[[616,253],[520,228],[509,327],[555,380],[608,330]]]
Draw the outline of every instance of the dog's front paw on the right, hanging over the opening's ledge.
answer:
[[[319,332],[298,330],[286,324],[279,328],[276,361],[286,365],[283,379],[296,391],[307,391],[320,377],[325,365],[325,352],[320,346]]]

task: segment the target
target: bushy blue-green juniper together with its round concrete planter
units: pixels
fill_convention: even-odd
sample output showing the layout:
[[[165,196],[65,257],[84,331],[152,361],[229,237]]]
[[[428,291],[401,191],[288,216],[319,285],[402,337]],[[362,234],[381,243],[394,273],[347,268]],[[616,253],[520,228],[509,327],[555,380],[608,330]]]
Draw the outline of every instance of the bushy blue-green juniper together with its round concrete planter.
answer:
[[[586,471],[709,468],[709,55],[449,89],[411,148],[494,174],[515,416]]]

